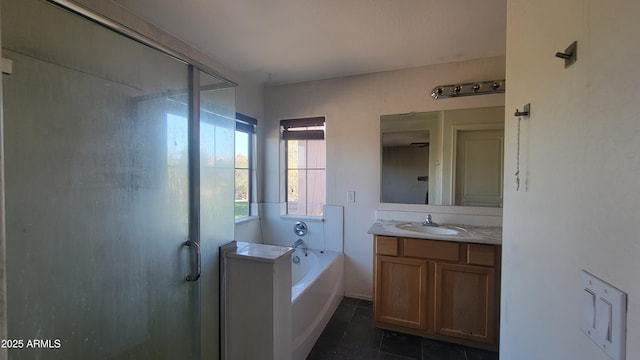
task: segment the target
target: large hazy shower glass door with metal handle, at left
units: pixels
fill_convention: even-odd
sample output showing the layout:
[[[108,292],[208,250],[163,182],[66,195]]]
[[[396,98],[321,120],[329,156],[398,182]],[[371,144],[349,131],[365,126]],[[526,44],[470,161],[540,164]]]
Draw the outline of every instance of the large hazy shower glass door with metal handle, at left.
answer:
[[[42,1],[1,11],[9,357],[199,358],[187,65]]]

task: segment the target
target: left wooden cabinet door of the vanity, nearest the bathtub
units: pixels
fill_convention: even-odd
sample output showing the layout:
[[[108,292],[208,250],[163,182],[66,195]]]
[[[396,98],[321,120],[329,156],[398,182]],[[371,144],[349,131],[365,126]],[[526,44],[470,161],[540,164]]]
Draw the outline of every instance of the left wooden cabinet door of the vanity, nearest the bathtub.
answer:
[[[426,329],[427,261],[376,256],[376,321]]]

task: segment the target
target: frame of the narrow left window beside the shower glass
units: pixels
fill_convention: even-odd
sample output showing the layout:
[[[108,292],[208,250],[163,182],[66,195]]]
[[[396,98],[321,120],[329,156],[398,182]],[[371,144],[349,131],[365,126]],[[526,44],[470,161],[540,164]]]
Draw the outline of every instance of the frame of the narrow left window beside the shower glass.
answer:
[[[247,215],[242,215],[242,216],[237,216],[236,212],[235,212],[235,195],[234,195],[234,219],[236,222],[239,221],[243,221],[246,220],[248,218],[251,218],[253,216],[256,216],[256,214],[254,214],[251,211],[251,204],[253,203],[254,200],[254,190],[255,190],[255,155],[256,155],[256,146],[255,146],[255,137],[256,137],[256,131],[257,131],[257,127],[258,127],[258,120],[255,118],[252,118],[251,116],[248,115],[244,115],[242,113],[236,112],[236,125],[235,125],[235,131],[234,131],[234,141],[235,141],[235,136],[237,132],[242,132],[248,135],[248,141],[247,141],[247,170],[248,170],[248,174],[247,174]],[[234,173],[239,169],[238,167],[236,167],[235,164],[235,157],[236,157],[236,153],[234,151],[234,164],[233,164],[233,168],[234,168]],[[244,168],[240,168],[243,169]],[[234,193],[236,192],[236,186],[237,184],[235,183],[235,175],[234,175],[234,186],[233,186],[233,190]]]

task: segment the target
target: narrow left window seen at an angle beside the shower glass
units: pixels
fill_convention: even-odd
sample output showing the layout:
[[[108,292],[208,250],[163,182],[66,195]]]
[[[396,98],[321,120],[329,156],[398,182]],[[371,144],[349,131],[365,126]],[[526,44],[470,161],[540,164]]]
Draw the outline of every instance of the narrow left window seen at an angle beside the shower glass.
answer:
[[[253,154],[258,121],[236,113],[236,153],[235,153],[235,218],[251,215],[251,195],[253,193]]]

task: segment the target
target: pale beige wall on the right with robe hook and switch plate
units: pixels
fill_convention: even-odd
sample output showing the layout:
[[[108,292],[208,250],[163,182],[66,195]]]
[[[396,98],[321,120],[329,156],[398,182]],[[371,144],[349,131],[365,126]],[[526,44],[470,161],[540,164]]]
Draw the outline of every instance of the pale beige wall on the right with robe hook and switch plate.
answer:
[[[503,359],[605,360],[579,328],[580,270],[629,294],[640,358],[637,1],[508,2]],[[578,41],[578,61],[555,58]],[[515,190],[516,108],[522,186]]]

